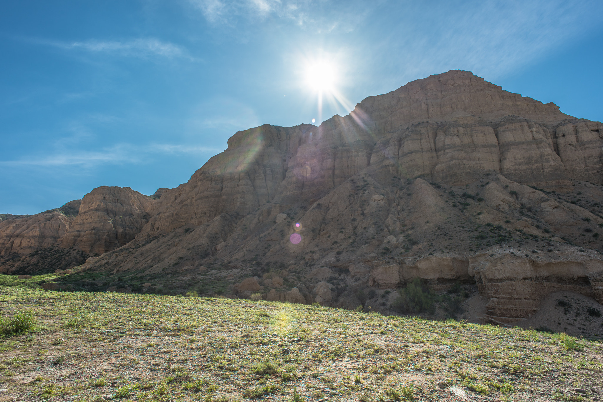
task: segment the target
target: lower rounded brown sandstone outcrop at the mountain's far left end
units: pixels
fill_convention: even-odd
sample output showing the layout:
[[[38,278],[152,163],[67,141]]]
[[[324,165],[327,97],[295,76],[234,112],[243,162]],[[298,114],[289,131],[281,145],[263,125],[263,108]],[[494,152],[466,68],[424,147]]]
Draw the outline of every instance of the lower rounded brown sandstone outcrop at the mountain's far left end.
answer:
[[[129,187],[102,186],[58,209],[6,215],[0,221],[0,272],[46,273],[81,265],[89,254],[134,239],[153,202]]]

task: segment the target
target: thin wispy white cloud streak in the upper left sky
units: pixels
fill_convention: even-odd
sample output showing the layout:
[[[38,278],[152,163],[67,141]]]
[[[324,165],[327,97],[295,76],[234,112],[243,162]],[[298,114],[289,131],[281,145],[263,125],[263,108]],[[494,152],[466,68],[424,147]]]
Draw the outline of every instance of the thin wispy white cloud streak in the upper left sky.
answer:
[[[123,41],[90,39],[76,42],[32,40],[32,42],[65,50],[118,54],[129,57],[191,58],[186,49],[181,46],[154,38],[138,38]]]

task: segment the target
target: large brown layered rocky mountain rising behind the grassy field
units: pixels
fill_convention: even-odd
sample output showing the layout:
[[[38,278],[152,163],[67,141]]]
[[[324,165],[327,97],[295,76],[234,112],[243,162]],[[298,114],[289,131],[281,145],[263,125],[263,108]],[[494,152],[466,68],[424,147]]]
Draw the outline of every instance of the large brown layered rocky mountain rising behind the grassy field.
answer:
[[[151,197],[99,187],[74,218],[2,221],[0,255],[96,253],[80,269],[112,290],[383,312],[414,278],[472,284],[479,319],[521,322],[555,292],[603,303],[602,173],[601,122],[449,71],[319,127],[239,131]]]

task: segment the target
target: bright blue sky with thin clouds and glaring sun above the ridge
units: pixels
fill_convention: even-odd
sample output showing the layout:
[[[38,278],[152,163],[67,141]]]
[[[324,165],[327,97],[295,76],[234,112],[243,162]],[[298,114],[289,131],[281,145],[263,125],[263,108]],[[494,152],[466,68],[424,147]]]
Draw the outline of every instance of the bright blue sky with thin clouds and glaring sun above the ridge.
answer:
[[[319,124],[450,69],[602,121],[601,17],[600,0],[0,2],[0,213],[150,195],[238,130]]]

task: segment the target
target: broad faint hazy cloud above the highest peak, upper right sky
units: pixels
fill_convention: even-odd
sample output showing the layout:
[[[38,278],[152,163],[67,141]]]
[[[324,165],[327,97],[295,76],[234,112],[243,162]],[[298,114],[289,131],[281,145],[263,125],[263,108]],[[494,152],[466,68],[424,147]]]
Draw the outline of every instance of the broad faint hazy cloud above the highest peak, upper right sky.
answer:
[[[425,30],[421,7],[371,49],[377,70],[396,70],[397,82],[458,68],[496,79],[592,30],[603,11],[589,0],[446,2],[430,10]]]

